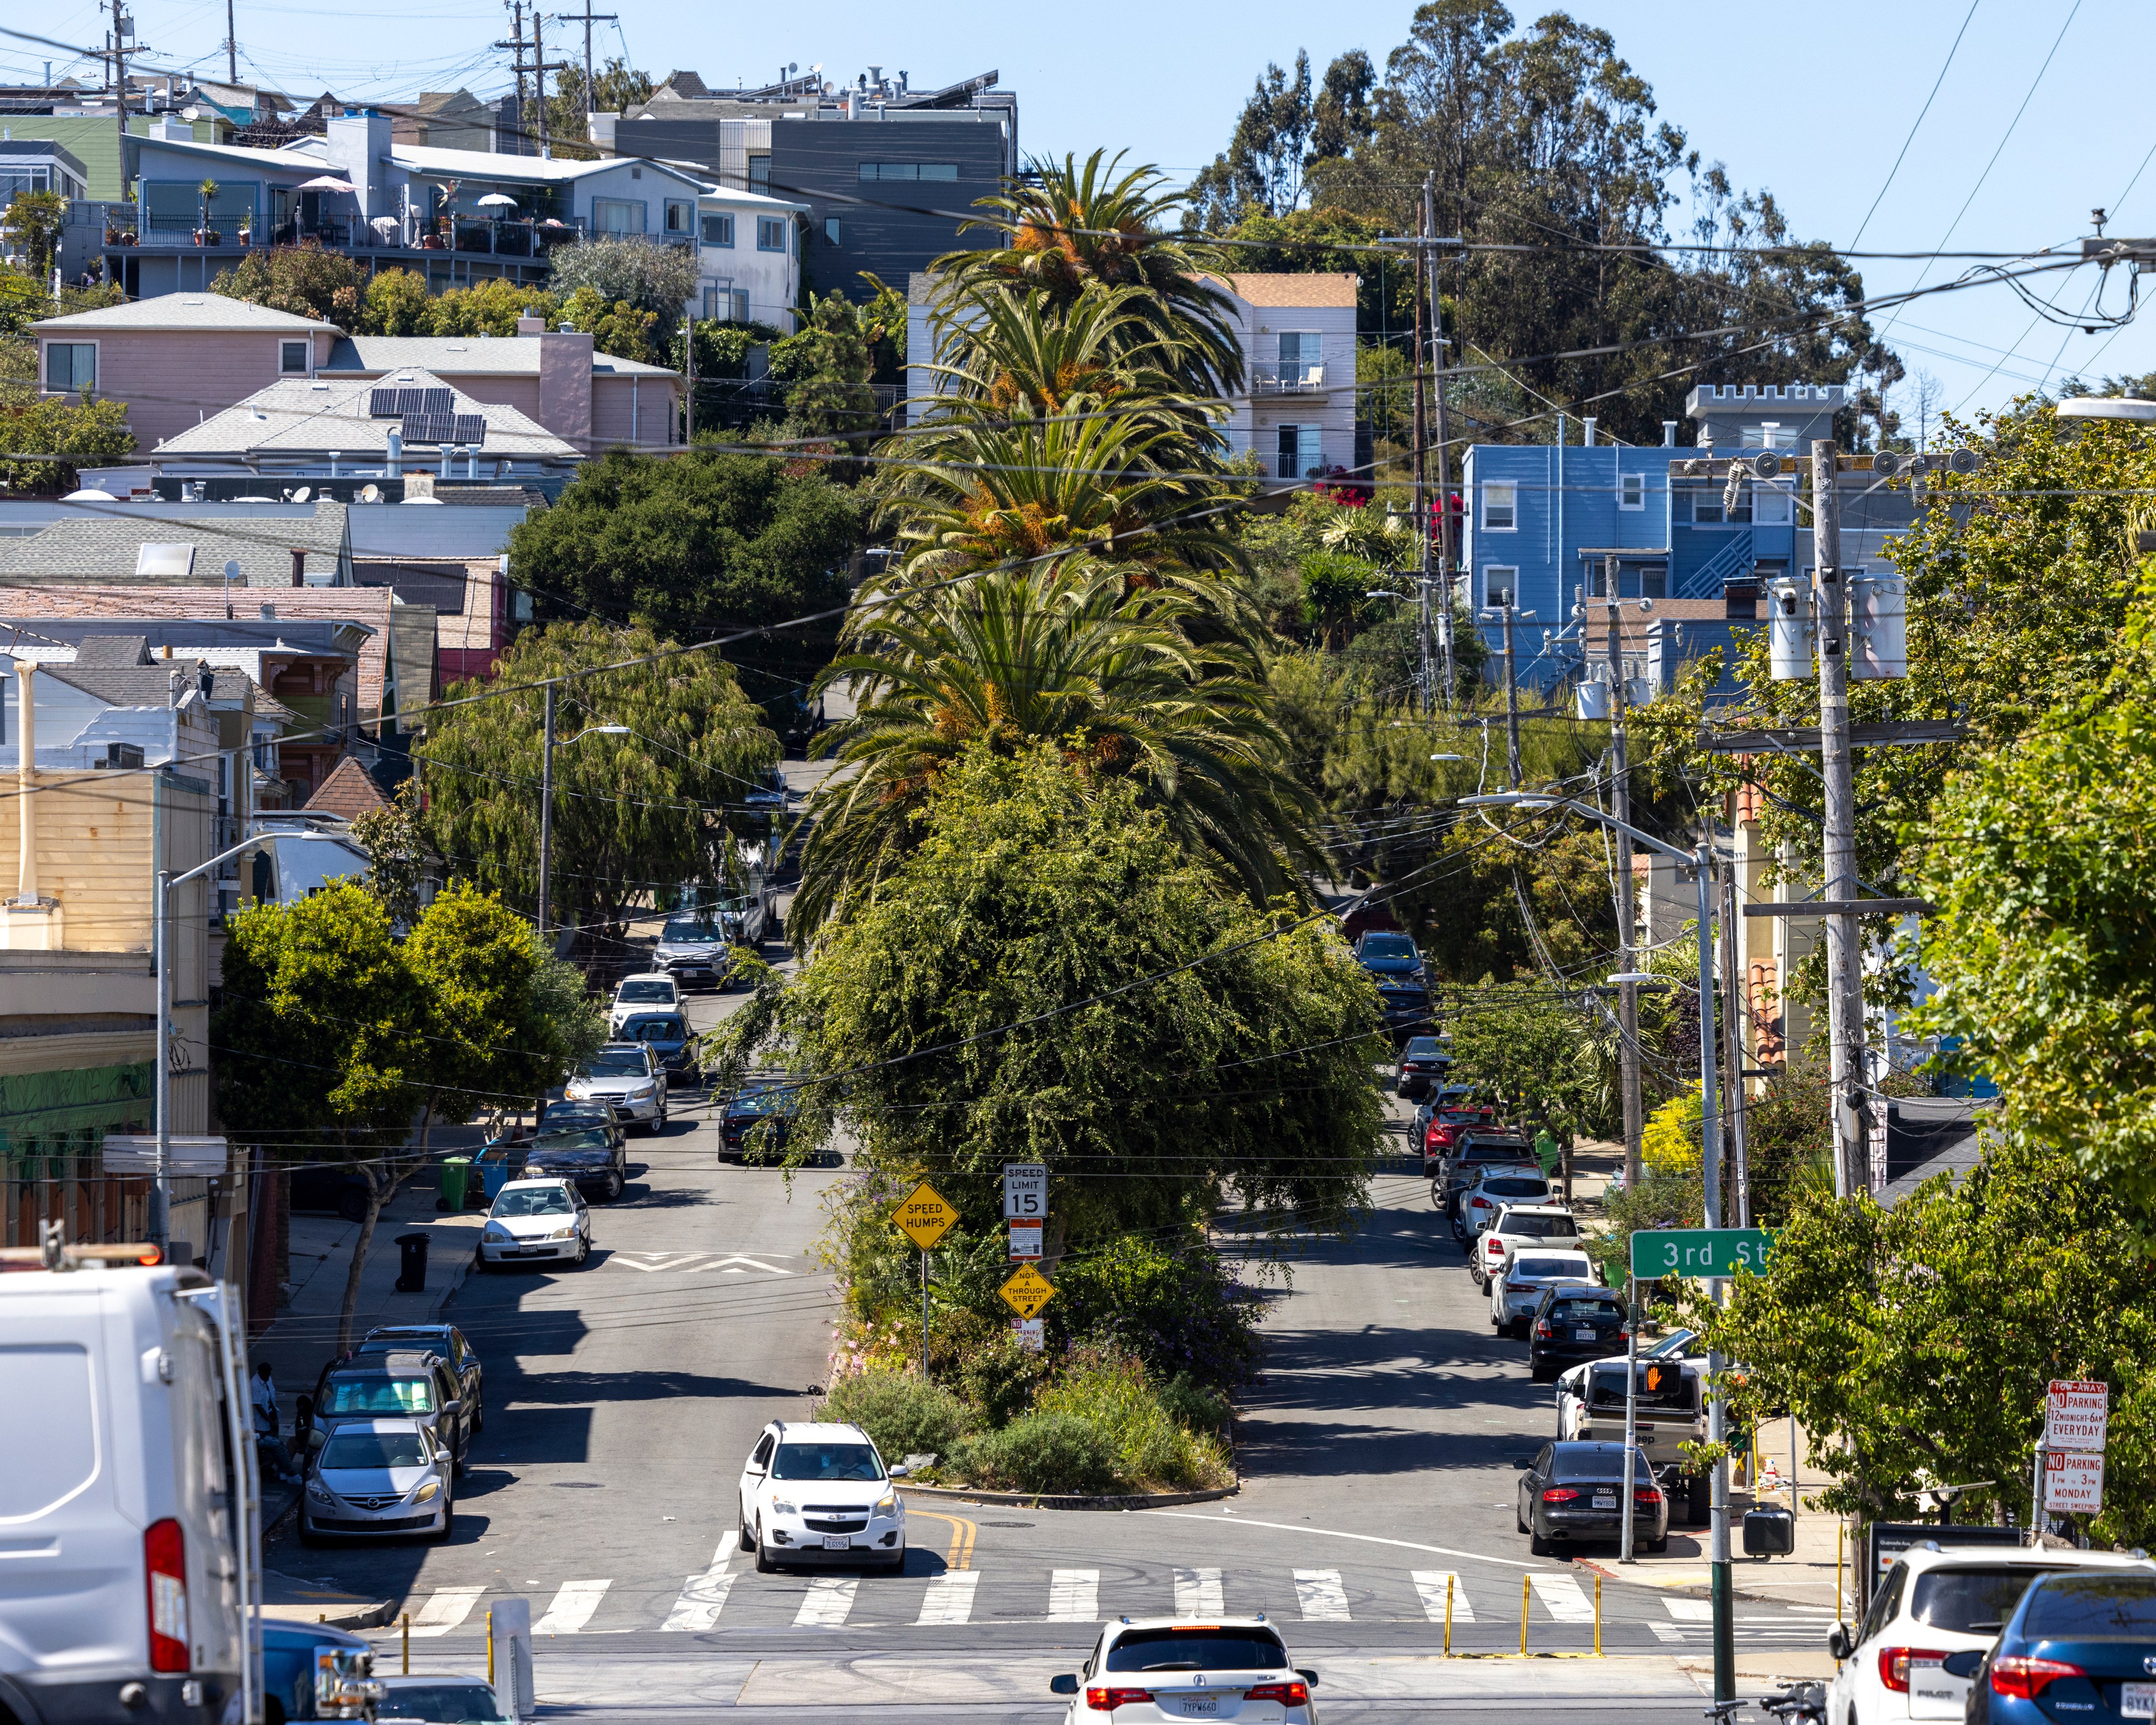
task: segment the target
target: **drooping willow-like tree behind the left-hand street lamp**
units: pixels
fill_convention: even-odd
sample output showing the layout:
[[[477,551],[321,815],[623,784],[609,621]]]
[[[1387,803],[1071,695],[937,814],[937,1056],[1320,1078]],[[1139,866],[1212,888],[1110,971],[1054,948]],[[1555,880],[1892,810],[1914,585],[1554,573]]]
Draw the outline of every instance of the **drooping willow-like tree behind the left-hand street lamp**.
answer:
[[[619,938],[627,906],[647,893],[716,886],[727,811],[778,761],[778,740],[714,653],[593,671],[662,647],[642,627],[552,623],[522,634],[496,666],[494,681],[507,688],[571,677],[558,694],[561,740],[595,724],[630,727],[554,750],[550,914],[561,927]],[[457,684],[448,699],[476,688]],[[444,709],[412,750],[436,850],[520,903],[535,901],[539,882],[541,724],[541,692],[526,688]]]

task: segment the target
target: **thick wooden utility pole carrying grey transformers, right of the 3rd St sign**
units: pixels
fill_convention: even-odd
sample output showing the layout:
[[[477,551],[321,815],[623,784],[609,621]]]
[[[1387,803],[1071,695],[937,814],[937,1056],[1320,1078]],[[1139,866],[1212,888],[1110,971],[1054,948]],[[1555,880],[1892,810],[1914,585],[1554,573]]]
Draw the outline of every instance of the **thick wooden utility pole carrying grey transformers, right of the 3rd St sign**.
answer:
[[[1820,630],[1820,776],[1826,828],[1820,895],[1856,899],[1856,774],[1850,763],[1850,595],[1841,569],[1841,505],[1830,438],[1811,444],[1813,617]],[[1835,1119],[1835,1197],[1871,1186],[1865,1134],[1865,1005],[1856,912],[1826,919],[1826,1011]]]

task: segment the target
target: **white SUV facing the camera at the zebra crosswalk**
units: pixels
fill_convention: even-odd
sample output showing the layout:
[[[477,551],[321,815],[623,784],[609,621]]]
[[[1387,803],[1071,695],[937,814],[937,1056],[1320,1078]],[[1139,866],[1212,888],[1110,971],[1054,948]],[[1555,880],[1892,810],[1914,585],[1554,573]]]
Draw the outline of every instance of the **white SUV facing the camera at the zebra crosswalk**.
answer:
[[[774,1419],[742,1468],[742,1550],[757,1572],[787,1563],[906,1568],[906,1503],[858,1425]]]

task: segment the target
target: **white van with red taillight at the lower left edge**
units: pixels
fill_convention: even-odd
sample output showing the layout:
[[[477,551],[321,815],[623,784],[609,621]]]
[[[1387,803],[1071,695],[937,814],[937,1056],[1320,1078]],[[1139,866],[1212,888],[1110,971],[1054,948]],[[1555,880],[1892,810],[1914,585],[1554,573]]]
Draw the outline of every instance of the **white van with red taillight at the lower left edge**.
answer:
[[[201,1270],[0,1274],[0,1714],[259,1714],[239,1300]]]

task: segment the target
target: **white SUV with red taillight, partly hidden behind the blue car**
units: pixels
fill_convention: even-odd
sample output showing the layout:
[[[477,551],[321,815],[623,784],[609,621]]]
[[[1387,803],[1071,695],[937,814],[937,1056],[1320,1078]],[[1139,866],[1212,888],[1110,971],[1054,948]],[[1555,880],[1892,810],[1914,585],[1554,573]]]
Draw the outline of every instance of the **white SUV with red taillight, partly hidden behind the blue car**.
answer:
[[[1940,1533],[1953,1540],[1951,1527]],[[1949,1678],[1940,1660],[1990,1647],[2031,1581],[2059,1570],[2156,1570],[2115,1552],[1945,1542],[1925,1540],[1895,1559],[1854,1641],[1835,1624],[1826,1650],[1841,1669],[1826,1690],[1826,1725],[1960,1719],[1968,1678]]]

